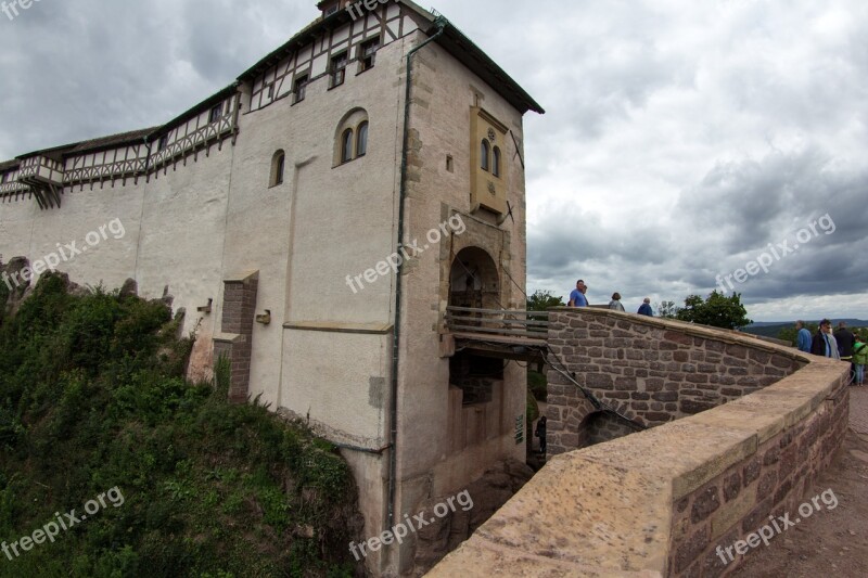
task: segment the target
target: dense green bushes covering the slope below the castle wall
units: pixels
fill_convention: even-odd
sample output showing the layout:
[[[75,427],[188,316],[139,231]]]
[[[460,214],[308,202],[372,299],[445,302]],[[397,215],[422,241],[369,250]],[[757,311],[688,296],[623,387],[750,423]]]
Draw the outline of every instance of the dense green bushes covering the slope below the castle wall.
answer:
[[[46,274],[0,323],[0,539],[117,487],[0,576],[344,576],[360,516],[330,444],[183,378],[190,339],[159,301]],[[5,557],[5,556],[3,556]]]

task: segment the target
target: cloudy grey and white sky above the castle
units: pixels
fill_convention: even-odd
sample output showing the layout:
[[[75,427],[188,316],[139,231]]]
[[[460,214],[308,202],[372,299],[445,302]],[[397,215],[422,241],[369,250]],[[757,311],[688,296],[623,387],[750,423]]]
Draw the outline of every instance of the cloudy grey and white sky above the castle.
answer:
[[[547,111],[525,117],[528,293],[583,278],[635,310],[719,279],[757,321],[868,319],[864,0],[430,1]],[[0,13],[0,159],[163,124],[315,4]]]

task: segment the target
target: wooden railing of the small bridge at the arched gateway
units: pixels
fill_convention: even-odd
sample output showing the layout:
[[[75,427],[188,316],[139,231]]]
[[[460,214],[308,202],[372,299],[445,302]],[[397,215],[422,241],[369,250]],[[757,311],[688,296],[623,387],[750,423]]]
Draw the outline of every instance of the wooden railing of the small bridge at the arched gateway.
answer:
[[[450,333],[483,333],[505,337],[546,339],[546,311],[447,307],[444,325]]]

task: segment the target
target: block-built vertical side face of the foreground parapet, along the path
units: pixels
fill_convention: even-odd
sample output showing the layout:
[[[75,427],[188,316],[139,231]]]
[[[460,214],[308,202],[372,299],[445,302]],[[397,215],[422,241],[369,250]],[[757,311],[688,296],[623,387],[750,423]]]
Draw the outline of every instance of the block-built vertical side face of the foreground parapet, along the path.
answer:
[[[712,422],[722,415],[738,419],[739,412],[751,406],[786,408],[800,396],[800,389],[760,391],[733,406],[737,411],[732,415],[712,415]],[[726,549],[743,540],[769,524],[770,515],[777,519],[789,513],[791,519],[797,519],[800,503],[829,466],[847,427],[848,390],[843,382],[814,402],[817,407],[791,427],[761,429],[755,451],[675,501],[671,575],[720,576],[743,558],[731,550],[733,560],[726,554],[722,560],[718,547]],[[768,419],[766,424],[770,425]]]

